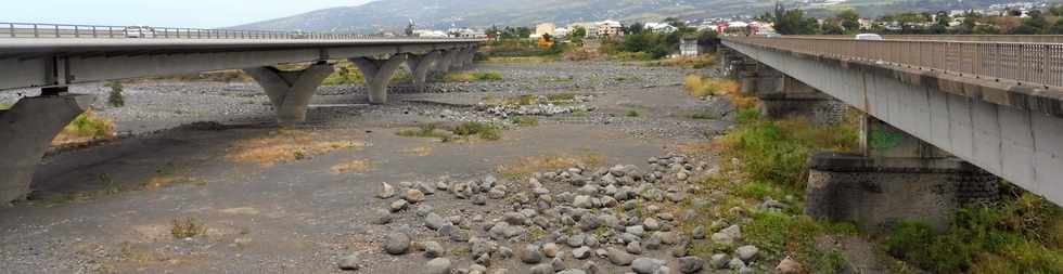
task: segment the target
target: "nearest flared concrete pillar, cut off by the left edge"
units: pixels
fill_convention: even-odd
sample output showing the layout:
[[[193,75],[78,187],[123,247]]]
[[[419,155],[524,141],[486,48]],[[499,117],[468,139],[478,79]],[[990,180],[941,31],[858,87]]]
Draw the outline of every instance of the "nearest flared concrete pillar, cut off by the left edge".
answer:
[[[24,97],[0,110],[0,205],[29,194],[29,183],[55,135],[95,97],[62,93]]]

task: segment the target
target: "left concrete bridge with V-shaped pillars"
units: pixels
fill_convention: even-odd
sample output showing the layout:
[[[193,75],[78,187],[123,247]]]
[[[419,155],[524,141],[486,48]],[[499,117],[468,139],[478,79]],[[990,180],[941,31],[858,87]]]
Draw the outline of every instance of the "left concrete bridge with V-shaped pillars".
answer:
[[[282,31],[0,23],[0,92],[40,88],[0,110],[0,204],[24,197],[52,139],[93,99],[75,83],[243,69],[266,91],[281,125],[306,118],[310,97],[349,60],[364,75],[369,103],[387,102],[387,86],[409,67],[418,90],[427,75],[472,65],[482,40],[385,38]],[[310,64],[284,71],[280,64]]]

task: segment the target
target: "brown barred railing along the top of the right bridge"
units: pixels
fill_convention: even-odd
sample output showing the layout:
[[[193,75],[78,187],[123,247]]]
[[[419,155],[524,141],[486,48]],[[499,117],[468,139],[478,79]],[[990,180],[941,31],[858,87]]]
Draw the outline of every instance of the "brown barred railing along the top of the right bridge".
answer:
[[[726,41],[958,75],[1063,87],[1063,43],[725,37]]]

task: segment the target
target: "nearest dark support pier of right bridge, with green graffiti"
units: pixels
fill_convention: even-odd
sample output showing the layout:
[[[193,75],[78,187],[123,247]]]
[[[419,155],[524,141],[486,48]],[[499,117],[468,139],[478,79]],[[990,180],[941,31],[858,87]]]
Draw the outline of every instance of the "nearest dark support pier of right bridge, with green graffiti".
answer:
[[[805,213],[885,232],[898,221],[948,227],[957,209],[997,198],[997,178],[867,117],[862,153],[811,159]]]

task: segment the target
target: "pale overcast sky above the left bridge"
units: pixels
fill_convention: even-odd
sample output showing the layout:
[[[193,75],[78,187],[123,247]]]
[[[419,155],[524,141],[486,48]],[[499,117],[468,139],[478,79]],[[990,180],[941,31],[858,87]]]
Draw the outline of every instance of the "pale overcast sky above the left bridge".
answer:
[[[370,1],[0,0],[0,22],[213,28]]]

